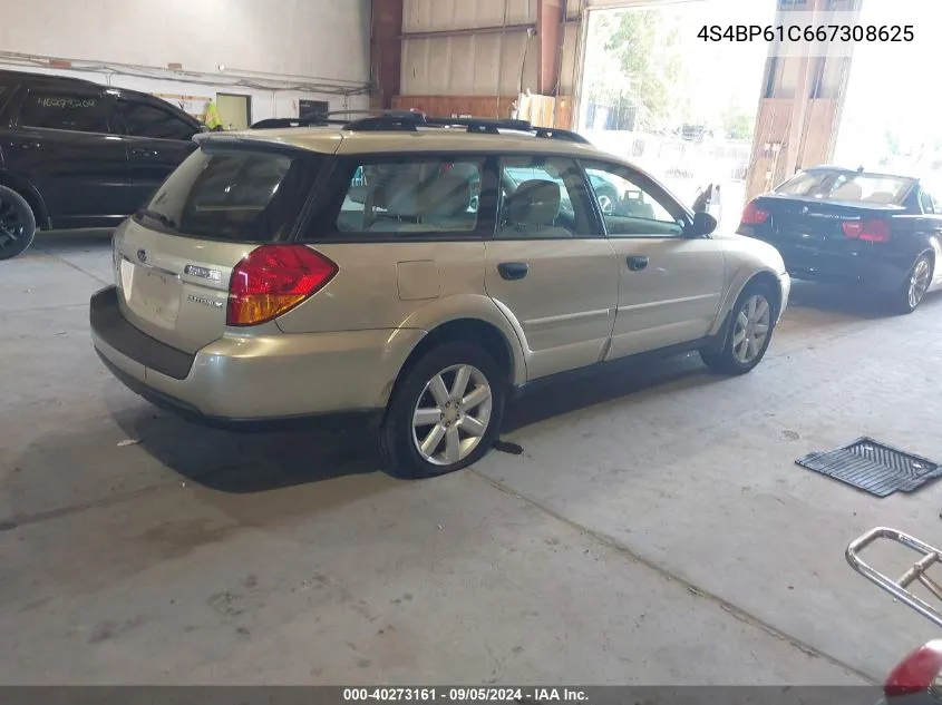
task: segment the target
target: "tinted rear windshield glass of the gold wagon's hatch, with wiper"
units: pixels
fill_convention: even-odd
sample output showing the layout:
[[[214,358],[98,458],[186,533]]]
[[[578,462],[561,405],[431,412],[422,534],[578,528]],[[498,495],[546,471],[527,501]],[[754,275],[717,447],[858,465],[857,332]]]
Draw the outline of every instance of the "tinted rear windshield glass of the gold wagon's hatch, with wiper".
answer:
[[[319,155],[204,146],[135,217],[176,235],[246,243],[283,241],[323,163]]]

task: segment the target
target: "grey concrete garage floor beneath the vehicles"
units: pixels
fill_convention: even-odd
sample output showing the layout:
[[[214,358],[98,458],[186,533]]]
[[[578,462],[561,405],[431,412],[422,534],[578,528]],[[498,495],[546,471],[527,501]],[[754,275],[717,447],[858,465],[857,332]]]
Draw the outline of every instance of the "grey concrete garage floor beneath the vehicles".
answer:
[[[942,457],[942,296],[797,285],[764,364],[696,356],[531,398],[523,456],[394,481],[355,432],[188,425],[99,364],[107,238],[0,263],[0,683],[843,684],[932,628],[856,576],[877,500],[793,464],[871,434]],[[122,444],[125,440],[137,444]]]

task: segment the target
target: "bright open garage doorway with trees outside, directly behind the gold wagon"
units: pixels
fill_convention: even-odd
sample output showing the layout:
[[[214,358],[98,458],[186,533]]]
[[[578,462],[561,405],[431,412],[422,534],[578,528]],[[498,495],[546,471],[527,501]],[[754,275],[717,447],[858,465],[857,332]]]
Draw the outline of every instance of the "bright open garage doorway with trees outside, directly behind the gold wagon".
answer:
[[[688,205],[718,184],[736,227],[768,47],[701,29],[773,23],[774,0],[697,0],[589,12],[577,129],[661,179]]]

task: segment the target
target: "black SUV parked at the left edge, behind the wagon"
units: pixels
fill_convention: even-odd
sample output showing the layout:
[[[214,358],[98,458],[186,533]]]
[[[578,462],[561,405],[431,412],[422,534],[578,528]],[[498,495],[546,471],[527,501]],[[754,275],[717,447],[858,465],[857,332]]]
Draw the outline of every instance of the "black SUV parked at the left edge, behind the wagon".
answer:
[[[202,129],[146,94],[0,71],[0,260],[29,247],[37,229],[119,224]]]

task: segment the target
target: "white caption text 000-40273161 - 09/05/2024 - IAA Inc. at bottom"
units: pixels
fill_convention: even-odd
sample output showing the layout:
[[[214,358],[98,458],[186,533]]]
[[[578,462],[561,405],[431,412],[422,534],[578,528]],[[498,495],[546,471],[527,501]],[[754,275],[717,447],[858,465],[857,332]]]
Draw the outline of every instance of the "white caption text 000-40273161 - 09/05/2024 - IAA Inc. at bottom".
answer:
[[[580,688],[518,687],[368,687],[343,688],[343,702],[412,702],[412,703],[585,703],[587,696]]]

